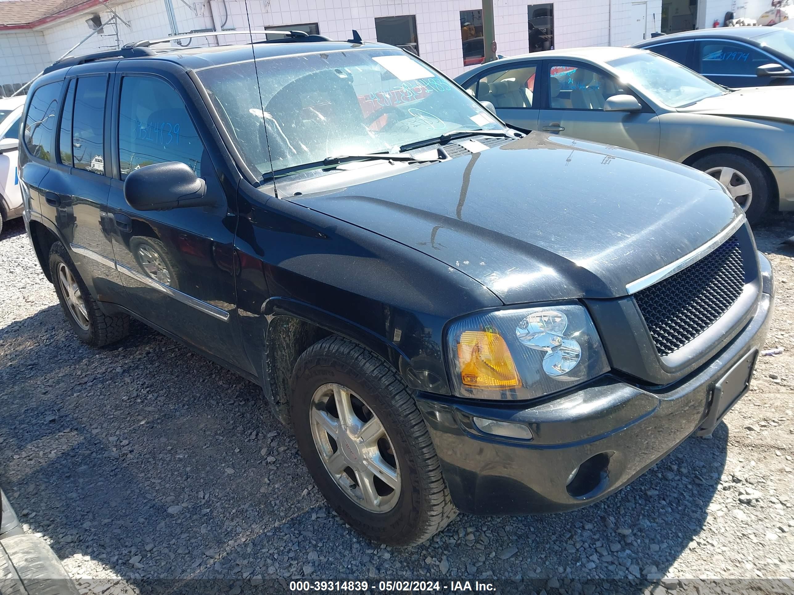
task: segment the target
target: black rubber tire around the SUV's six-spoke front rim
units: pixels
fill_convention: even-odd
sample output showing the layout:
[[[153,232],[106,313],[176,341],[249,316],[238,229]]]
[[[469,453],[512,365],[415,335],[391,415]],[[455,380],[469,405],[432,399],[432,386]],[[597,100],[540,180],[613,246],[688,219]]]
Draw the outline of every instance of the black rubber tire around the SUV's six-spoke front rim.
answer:
[[[390,447],[384,458],[392,457],[395,463],[399,493],[393,489],[378,499],[390,502],[391,509],[381,512],[366,509],[343,490],[339,480],[326,468],[321,455],[323,446],[318,446],[314,437],[311,416],[317,407],[314,399],[318,391],[333,384],[347,387],[351,402],[356,401],[359,407],[363,405],[360,410],[364,415],[371,413],[382,424],[384,439]],[[291,420],[303,460],[326,501],[351,527],[380,543],[411,546],[434,536],[457,516],[422,414],[402,378],[383,359],[352,341],[327,337],[300,356],[291,386]],[[349,448],[349,442],[343,444],[343,440],[347,439],[340,439],[337,451]],[[379,439],[377,443],[381,448],[383,441]],[[363,457],[363,452],[358,454]],[[352,469],[348,467],[345,474]],[[356,474],[355,478],[358,477]],[[385,492],[391,489],[384,482],[374,483],[385,486]],[[360,491],[363,493],[363,489]]]

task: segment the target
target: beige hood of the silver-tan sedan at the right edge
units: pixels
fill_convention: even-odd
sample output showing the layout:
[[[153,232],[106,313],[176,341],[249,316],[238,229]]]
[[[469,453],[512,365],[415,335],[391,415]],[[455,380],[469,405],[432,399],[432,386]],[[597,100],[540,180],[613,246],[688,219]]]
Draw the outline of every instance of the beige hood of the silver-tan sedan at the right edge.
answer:
[[[794,124],[792,116],[794,86],[754,86],[703,99],[694,106],[680,108],[686,113],[711,113],[716,116],[749,117]]]

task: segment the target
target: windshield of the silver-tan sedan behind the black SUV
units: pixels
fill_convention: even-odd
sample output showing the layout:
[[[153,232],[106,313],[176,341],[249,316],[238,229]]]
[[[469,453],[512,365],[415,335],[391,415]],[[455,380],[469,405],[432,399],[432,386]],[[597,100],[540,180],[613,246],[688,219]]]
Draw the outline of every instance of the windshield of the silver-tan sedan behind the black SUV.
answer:
[[[618,71],[623,82],[640,87],[657,102],[673,108],[728,93],[687,67],[651,53],[614,59],[608,64]]]

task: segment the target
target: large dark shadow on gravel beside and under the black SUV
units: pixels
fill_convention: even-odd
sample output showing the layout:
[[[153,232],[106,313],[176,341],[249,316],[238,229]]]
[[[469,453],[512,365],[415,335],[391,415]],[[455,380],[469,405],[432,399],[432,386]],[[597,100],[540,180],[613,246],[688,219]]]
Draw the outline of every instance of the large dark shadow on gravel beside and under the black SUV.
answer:
[[[421,546],[379,547],[325,505],[258,387],[140,324],[92,349],[53,305],[0,330],[0,361],[0,484],[21,522],[51,539],[73,574],[141,589],[156,579],[349,577],[530,590],[542,578],[551,594],[615,578],[639,593],[646,575],[701,547],[709,512],[728,512],[708,509],[726,460],[721,424],[588,508],[459,516]]]

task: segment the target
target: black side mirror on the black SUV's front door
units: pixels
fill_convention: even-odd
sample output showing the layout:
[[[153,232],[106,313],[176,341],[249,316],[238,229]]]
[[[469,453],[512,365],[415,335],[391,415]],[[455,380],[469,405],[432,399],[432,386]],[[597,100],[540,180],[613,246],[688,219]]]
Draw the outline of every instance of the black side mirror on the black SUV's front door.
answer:
[[[214,205],[206,196],[206,182],[179,161],[154,163],[130,171],[124,180],[124,198],[138,211]]]

